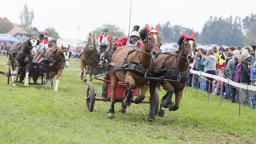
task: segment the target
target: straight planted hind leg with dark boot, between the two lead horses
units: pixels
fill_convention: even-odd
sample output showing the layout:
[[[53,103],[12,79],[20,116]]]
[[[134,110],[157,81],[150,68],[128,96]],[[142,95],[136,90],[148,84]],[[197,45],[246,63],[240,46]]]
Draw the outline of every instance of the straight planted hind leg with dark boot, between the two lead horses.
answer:
[[[149,97],[149,114],[148,114],[148,118],[147,120],[150,122],[155,121],[155,90],[156,90],[156,85],[157,80],[152,80],[150,82],[150,88],[149,88],[149,92],[150,92],[150,97]]]

